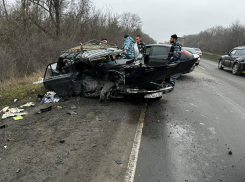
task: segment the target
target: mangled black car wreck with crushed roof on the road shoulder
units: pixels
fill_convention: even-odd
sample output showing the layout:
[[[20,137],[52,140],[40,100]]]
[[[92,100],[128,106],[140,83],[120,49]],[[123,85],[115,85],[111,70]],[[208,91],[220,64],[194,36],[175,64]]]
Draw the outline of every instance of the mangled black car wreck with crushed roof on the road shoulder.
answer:
[[[159,62],[150,66],[115,47],[81,48],[65,51],[58,62],[49,64],[43,83],[59,96],[99,97],[101,101],[125,96],[161,98],[172,90],[166,78],[191,70],[196,61],[188,55],[179,63],[162,65]]]

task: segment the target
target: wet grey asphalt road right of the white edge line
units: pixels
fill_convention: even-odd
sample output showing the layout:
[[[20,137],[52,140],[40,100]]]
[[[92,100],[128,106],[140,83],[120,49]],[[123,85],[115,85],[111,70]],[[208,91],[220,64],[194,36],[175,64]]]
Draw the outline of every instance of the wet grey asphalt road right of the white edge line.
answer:
[[[148,103],[134,181],[245,181],[244,90],[244,74],[202,59]]]

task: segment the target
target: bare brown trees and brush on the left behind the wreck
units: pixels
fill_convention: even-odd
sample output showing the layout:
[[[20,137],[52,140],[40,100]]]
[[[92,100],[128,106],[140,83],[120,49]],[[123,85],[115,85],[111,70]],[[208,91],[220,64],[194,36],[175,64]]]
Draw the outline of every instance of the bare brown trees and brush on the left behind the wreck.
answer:
[[[107,38],[121,47],[124,35],[141,35],[145,43],[155,43],[142,31],[135,13],[114,13],[98,9],[92,0],[16,0],[0,3],[0,84],[12,77],[27,77],[45,71],[61,50],[92,39]]]

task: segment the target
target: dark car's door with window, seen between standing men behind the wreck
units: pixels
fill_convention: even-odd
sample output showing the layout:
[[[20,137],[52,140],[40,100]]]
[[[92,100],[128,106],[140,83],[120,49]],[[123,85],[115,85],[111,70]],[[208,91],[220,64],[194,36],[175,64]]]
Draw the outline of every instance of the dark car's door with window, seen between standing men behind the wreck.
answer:
[[[152,46],[149,55],[150,66],[165,66],[170,47],[167,46]]]

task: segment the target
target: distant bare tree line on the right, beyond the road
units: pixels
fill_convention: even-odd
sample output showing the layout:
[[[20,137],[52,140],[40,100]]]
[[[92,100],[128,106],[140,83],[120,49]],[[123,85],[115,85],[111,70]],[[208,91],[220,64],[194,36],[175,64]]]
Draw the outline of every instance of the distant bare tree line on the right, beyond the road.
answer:
[[[236,21],[228,27],[216,26],[198,34],[185,35],[184,38],[184,46],[224,54],[234,47],[245,45],[245,24]]]

